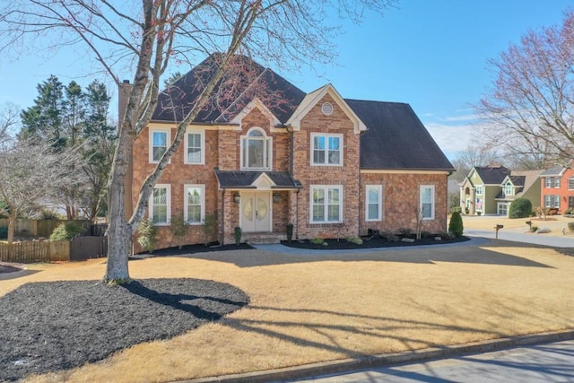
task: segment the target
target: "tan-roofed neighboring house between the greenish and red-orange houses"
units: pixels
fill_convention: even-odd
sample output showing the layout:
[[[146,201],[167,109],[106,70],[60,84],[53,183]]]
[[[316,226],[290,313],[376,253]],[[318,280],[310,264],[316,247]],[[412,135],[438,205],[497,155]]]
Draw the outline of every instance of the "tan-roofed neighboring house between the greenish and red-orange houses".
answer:
[[[496,196],[496,211],[499,215],[509,215],[509,207],[517,198],[526,198],[532,208],[540,206],[540,173],[543,170],[510,171],[500,183],[500,193]]]

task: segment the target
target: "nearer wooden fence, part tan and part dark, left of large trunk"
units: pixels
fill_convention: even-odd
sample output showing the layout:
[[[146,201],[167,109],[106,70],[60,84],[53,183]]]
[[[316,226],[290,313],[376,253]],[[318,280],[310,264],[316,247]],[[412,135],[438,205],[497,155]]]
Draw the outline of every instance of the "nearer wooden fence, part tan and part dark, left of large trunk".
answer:
[[[107,237],[78,237],[58,242],[35,240],[10,245],[0,242],[0,260],[4,262],[79,261],[107,256]]]

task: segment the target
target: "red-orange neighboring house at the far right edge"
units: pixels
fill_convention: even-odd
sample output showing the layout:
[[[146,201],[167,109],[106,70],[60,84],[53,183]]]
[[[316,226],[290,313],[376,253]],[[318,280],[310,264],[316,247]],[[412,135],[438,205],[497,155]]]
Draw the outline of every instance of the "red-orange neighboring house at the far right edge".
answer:
[[[542,206],[554,207],[561,214],[574,209],[574,170],[571,165],[572,161],[566,166],[553,165],[540,174]]]

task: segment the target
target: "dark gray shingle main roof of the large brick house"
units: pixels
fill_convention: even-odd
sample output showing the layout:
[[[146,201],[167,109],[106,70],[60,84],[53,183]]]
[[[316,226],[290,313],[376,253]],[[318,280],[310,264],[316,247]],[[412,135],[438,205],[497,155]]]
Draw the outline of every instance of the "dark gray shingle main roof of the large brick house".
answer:
[[[162,91],[152,120],[171,122],[184,118],[204,90],[204,84],[213,76],[217,59],[218,55],[206,58]],[[237,59],[239,66],[244,68],[239,71],[239,80],[234,82],[230,95],[213,100],[194,122],[230,122],[257,97],[280,122],[285,123],[306,94],[248,57],[238,56]],[[214,92],[221,93],[224,87],[220,82]],[[345,102],[367,126],[367,131],[361,133],[362,170],[455,170],[410,105],[365,100]]]

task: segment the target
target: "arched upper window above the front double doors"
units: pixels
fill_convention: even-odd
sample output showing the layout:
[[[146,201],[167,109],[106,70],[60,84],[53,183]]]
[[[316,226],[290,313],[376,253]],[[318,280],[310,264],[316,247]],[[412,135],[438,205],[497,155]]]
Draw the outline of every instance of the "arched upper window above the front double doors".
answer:
[[[273,138],[265,130],[252,127],[248,135],[241,136],[241,169],[271,170]]]

